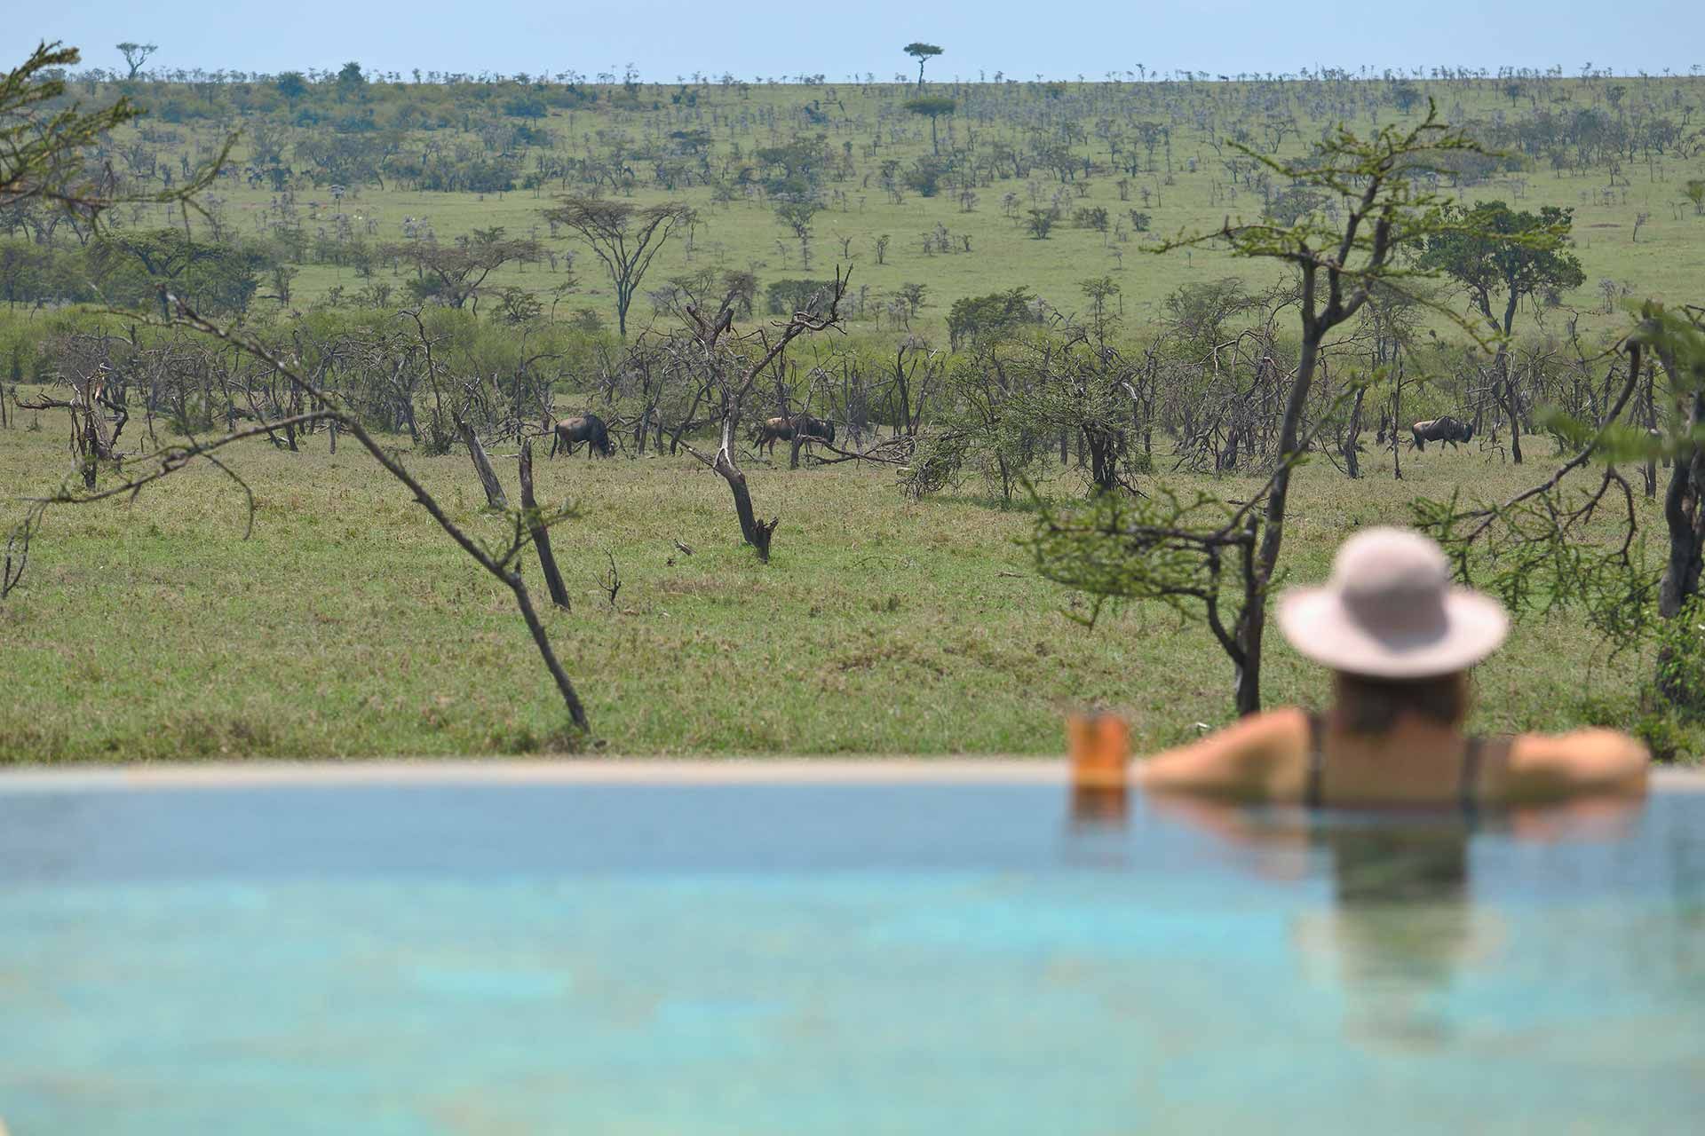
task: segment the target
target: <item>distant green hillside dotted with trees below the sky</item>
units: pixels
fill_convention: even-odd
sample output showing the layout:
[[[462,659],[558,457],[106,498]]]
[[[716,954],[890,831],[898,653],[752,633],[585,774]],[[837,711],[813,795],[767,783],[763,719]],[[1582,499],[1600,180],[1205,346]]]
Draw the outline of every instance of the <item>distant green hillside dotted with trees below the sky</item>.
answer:
[[[1192,279],[1277,279],[1216,249],[1142,255],[1284,198],[1284,179],[1240,145],[1291,158],[1338,123],[1362,135],[1417,123],[1429,99],[1497,153],[1465,155],[1439,189],[1463,204],[1574,209],[1586,281],[1533,312],[1553,332],[1574,313],[1584,329],[1615,325],[1625,296],[1693,300],[1705,271],[1705,215],[1686,196],[1705,177],[1705,77],[931,82],[929,97],[951,100],[933,119],[907,111],[921,94],[909,83],[394,83],[356,68],[355,82],[327,75],[293,97],[271,77],[72,87],[90,102],[124,90],[150,111],[114,136],[111,164],[155,187],[235,136],[196,225],[295,269],[290,303],[266,300],[276,290],[261,273],[256,312],[401,301],[409,269],[387,245],[503,228],[554,255],[503,264],[486,310],[515,286],[554,317],[585,308],[614,325],[602,267],[542,216],[558,194],[602,192],[696,211],[651,266],[638,324],[653,318],[644,293],[706,267],[750,271],[762,290],[851,266],[849,313],[871,327],[939,337],[955,300],[1018,286],[1078,313],[1079,281],[1101,276],[1141,327]],[[820,206],[803,249],[776,211],[801,194]],[[1032,209],[1057,209],[1047,238]],[[176,208],[143,206],[114,220],[182,223]],[[895,303],[905,284],[924,288],[921,307]],[[668,318],[667,296],[658,307]]]

